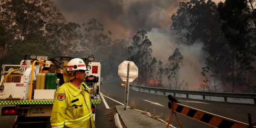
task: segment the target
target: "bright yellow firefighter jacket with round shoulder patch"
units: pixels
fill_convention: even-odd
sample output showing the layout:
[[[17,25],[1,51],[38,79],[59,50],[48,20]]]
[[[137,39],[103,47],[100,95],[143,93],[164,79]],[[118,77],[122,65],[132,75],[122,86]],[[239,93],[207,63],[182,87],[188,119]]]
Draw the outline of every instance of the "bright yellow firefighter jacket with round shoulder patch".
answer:
[[[68,82],[55,91],[50,122],[52,128],[95,128],[89,88],[85,83],[78,89]]]

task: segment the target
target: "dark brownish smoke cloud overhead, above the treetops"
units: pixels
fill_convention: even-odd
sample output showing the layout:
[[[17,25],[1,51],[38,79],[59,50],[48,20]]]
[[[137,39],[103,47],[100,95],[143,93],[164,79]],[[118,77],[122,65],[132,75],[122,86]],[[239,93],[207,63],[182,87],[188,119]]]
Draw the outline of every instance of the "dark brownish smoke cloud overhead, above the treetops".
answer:
[[[180,0],[56,0],[67,21],[79,24],[95,18],[113,40],[132,37],[140,29],[168,27]]]

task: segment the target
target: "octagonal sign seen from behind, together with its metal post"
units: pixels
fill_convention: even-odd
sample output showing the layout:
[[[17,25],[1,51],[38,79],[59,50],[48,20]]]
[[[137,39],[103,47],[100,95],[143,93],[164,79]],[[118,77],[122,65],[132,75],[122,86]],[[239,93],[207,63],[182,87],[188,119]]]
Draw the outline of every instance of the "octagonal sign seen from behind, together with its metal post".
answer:
[[[128,106],[129,82],[138,77],[138,67],[133,62],[125,60],[118,66],[118,75],[123,81],[126,81],[124,105],[124,110],[126,110]]]

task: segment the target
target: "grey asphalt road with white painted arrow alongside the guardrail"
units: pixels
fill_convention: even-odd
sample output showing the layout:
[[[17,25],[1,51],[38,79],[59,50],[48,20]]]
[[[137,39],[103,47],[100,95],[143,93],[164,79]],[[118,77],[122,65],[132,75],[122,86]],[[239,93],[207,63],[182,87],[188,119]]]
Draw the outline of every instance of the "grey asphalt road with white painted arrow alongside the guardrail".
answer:
[[[125,87],[120,86],[122,81],[104,81],[100,87],[100,92],[107,97],[110,97],[118,102],[124,103]],[[106,98],[106,102],[109,107],[115,107],[115,105],[120,105],[113,100]],[[159,116],[162,120],[169,117],[171,114],[168,108],[168,98],[167,96],[159,96],[155,94],[147,94],[144,92],[137,92],[130,89],[128,104],[135,100],[137,102],[136,109],[154,113],[154,115]],[[194,107],[196,109],[204,110],[206,112],[214,113],[223,117],[231,118],[240,122],[248,123],[247,113],[252,114],[252,121],[256,122],[256,106],[246,105],[246,104],[232,104],[225,102],[212,102],[212,101],[202,101],[202,100],[192,100],[185,98],[178,98],[181,104]],[[184,128],[211,128],[203,123],[199,123],[191,118],[184,117],[178,114]],[[178,126],[178,122],[175,117],[172,118],[172,123]]]

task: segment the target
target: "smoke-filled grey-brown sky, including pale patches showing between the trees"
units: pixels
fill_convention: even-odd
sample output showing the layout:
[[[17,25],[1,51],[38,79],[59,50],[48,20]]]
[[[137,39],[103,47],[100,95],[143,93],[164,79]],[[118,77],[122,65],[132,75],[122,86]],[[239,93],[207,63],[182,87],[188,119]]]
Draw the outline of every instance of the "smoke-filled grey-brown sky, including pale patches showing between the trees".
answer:
[[[110,37],[122,39],[133,37],[138,30],[147,31],[152,42],[152,57],[167,63],[176,48],[184,55],[181,77],[190,82],[190,89],[198,88],[198,81],[204,65],[203,44],[190,47],[175,44],[170,33],[171,16],[183,0],[54,0],[55,6],[67,21],[79,24],[95,18],[104,25]],[[219,3],[221,0],[213,0]],[[188,75],[195,73],[198,75]]]

